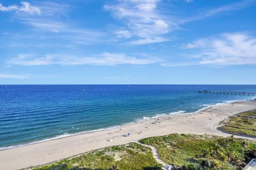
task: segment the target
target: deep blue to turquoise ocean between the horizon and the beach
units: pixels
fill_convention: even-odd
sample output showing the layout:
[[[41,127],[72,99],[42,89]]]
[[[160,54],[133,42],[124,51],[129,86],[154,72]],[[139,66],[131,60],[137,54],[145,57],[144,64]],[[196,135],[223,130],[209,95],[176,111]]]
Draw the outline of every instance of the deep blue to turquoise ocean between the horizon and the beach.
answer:
[[[198,90],[256,92],[256,85],[0,85],[0,148],[252,99]]]

